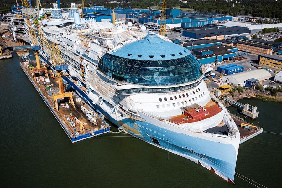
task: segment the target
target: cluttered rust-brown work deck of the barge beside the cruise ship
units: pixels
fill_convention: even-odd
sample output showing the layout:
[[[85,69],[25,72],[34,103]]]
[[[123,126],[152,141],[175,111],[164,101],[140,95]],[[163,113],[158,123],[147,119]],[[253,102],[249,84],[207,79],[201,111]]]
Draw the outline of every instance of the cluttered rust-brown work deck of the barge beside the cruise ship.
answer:
[[[28,62],[21,62],[24,65],[24,69],[26,72],[28,72],[29,76],[32,78],[32,74],[29,71],[29,66],[36,66],[36,63],[34,61],[28,61]],[[48,72],[49,74],[49,72]],[[45,76],[44,76],[45,77]],[[95,112],[93,109],[91,109],[78,95],[72,94],[73,101],[75,103],[74,108],[68,99],[64,98],[64,100],[61,100],[60,103],[58,103],[59,106],[59,112],[55,109],[53,105],[53,98],[52,94],[57,94],[59,92],[58,89],[58,79],[54,78],[52,79],[51,76],[50,83],[44,82],[42,77],[38,79],[38,81],[34,81],[38,89],[43,93],[45,99],[49,102],[50,106],[53,108],[53,114],[55,114],[59,117],[57,120],[61,124],[61,126],[65,129],[65,132],[68,134],[70,139],[73,142],[73,138],[79,140],[80,136],[83,136],[83,139],[86,137],[92,137],[97,134],[99,131],[99,134],[102,132],[108,132],[109,131],[109,125],[102,119],[100,116],[97,115],[97,112]],[[95,121],[89,120],[86,113],[83,112],[81,106],[92,115],[92,118],[95,119]],[[55,115],[54,114],[54,115]],[[88,115],[89,116],[89,115]],[[81,122],[83,126],[81,126]],[[84,129],[84,130],[83,130]],[[101,132],[101,130],[104,130]],[[96,133],[95,133],[96,132]],[[87,136],[89,135],[89,136]]]

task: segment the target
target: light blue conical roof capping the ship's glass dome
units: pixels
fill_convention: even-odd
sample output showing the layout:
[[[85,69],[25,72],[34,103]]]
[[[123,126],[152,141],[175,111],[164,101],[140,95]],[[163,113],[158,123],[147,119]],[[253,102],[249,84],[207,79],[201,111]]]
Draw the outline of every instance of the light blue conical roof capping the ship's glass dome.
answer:
[[[144,39],[125,44],[123,48],[111,50],[112,55],[135,60],[171,60],[185,57],[190,51],[180,45],[160,39],[155,34],[148,34]]]

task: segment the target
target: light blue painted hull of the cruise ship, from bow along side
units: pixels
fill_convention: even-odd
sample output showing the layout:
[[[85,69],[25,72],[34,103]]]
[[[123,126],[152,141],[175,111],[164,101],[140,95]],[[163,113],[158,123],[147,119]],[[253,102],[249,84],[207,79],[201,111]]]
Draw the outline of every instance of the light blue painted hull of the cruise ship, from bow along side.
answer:
[[[93,108],[98,109],[104,114],[105,118],[114,125],[121,127],[125,132],[149,144],[190,159],[211,170],[223,179],[233,182],[237,160],[237,146],[230,143],[219,143],[217,142],[218,140],[211,141],[201,139],[195,136],[180,134],[168,129],[160,128],[159,126],[156,126],[160,122],[154,118],[151,118],[150,122],[153,121],[155,123],[149,123],[149,121],[145,120],[134,120],[132,118],[125,118],[121,121],[117,121],[100,105],[93,104],[86,93],[76,86],[68,77],[64,76],[64,79]],[[158,140],[159,144],[157,144],[153,138]],[[221,159],[217,159],[219,154]],[[217,156],[217,158],[215,156]]]

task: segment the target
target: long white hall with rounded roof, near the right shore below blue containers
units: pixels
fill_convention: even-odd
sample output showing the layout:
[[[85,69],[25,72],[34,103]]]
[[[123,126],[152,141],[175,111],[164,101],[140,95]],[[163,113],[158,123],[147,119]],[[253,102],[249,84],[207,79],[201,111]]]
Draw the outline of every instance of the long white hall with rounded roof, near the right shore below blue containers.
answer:
[[[251,78],[263,81],[271,78],[271,73],[264,69],[254,69],[237,74],[223,76],[222,81],[234,85],[245,86],[246,80]]]

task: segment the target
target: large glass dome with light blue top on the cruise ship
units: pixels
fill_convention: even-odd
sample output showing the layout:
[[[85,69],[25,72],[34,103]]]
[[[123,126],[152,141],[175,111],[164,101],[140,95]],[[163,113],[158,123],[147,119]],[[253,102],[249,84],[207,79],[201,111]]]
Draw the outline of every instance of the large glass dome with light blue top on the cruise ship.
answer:
[[[189,50],[156,35],[107,52],[98,69],[116,80],[146,86],[184,84],[203,74]]]

